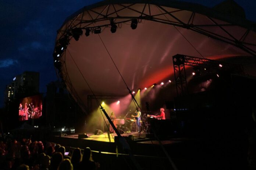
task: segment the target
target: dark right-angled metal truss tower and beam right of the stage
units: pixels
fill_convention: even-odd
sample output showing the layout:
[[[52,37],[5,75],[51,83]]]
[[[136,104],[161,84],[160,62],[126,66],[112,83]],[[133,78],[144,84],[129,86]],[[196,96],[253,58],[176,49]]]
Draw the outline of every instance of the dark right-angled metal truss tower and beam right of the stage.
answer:
[[[211,71],[229,70],[235,74],[243,73],[243,67],[241,65],[224,63],[216,60],[198,58],[181,54],[174,55],[173,68],[177,96],[183,96],[188,93],[185,66],[204,68]]]

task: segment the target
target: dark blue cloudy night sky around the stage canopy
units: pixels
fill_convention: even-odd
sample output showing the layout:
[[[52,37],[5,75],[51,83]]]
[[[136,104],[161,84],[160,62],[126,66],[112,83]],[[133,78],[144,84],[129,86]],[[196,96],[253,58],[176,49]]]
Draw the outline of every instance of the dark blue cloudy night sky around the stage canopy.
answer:
[[[83,6],[100,0],[1,0],[0,1],[0,107],[4,90],[17,74],[40,72],[40,92],[56,81],[52,53],[57,30],[65,18]],[[186,0],[207,7],[223,0]],[[245,10],[246,18],[256,22],[256,1],[235,0]]]

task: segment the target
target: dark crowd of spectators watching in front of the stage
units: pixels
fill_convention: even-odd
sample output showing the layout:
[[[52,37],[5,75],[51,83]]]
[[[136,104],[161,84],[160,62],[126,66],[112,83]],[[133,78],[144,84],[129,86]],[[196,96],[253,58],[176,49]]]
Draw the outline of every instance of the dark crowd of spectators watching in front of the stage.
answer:
[[[65,154],[66,153],[66,154]],[[7,139],[0,141],[0,170],[96,170],[90,148],[65,152],[59,144]]]

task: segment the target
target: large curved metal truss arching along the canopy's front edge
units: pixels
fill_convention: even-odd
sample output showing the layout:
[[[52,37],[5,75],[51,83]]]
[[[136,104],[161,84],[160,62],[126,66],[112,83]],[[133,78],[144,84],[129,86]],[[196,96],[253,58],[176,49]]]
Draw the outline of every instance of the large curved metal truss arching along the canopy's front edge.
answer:
[[[140,10],[138,10],[138,8]],[[186,19],[182,18],[180,12],[185,12]],[[70,29],[76,27],[81,29],[89,28],[91,31],[97,27],[110,27],[109,21],[111,19],[114,20],[115,24],[127,23],[131,22],[133,19],[138,19],[139,22],[142,22],[142,20],[149,20],[182,27],[234,45],[251,55],[256,56],[256,51],[253,50],[253,47],[256,47],[256,43],[246,41],[248,34],[251,31],[254,31],[252,30],[253,27],[228,23],[205,14],[155,4],[108,4],[100,9],[94,8],[84,10],[82,13],[68,20],[58,33],[64,35],[67,34]],[[206,22],[204,24],[198,24],[198,21],[202,19]],[[243,31],[242,36],[238,37],[236,33],[229,32],[228,29],[230,26],[243,28],[241,30]],[[217,29],[217,31],[212,31],[214,29]]]

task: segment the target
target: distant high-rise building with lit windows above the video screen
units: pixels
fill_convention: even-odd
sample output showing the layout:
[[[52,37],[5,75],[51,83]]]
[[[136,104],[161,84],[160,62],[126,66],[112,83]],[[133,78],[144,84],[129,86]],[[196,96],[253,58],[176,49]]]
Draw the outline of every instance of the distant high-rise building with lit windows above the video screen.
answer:
[[[19,95],[29,96],[36,93],[39,93],[39,72],[25,71],[16,75],[13,81],[6,86],[4,98],[5,101],[10,101]]]

